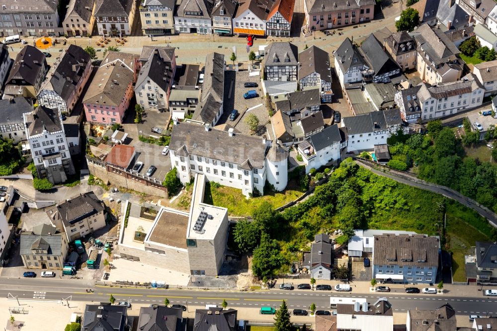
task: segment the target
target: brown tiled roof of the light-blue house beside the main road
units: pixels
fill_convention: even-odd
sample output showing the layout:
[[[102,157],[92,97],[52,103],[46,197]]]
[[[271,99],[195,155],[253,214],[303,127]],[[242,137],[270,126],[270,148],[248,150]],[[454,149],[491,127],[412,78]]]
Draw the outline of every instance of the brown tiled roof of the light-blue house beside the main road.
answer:
[[[436,267],[439,247],[438,238],[425,235],[374,236],[373,263]]]

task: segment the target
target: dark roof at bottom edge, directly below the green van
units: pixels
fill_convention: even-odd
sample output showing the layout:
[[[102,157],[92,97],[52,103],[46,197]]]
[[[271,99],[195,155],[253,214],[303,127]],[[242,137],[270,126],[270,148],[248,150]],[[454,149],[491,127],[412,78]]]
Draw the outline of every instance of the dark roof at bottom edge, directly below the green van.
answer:
[[[237,327],[235,309],[209,308],[195,311],[193,331],[236,331]]]

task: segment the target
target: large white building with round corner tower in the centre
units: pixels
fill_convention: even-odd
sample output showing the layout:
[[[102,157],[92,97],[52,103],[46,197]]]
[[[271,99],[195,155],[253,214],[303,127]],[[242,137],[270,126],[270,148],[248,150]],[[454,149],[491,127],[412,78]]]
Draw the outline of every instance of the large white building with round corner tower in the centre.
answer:
[[[169,149],[182,183],[203,173],[208,181],[241,189],[246,196],[263,194],[266,179],[278,189],[287,184],[288,152],[277,142],[175,121]]]

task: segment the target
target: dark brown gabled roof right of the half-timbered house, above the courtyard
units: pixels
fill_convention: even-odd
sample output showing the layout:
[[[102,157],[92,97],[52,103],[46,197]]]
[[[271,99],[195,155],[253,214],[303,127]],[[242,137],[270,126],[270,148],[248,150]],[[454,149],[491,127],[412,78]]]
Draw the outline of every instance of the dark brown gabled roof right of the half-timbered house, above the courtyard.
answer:
[[[330,55],[321,48],[311,46],[299,54],[299,80],[316,72],[323,81],[331,82]]]

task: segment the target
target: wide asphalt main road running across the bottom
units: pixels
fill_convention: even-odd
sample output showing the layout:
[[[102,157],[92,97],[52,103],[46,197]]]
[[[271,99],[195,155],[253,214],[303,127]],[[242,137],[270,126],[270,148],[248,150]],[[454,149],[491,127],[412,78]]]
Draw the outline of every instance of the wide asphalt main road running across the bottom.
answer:
[[[20,286],[22,284],[22,286]],[[144,289],[95,286],[93,293],[87,293],[85,282],[57,279],[18,279],[2,278],[0,280],[0,295],[16,301],[48,301],[56,302],[61,299],[85,302],[106,302],[112,294],[116,301],[130,301],[141,304],[162,304],[168,298],[171,304],[203,306],[206,304],[220,305],[225,299],[232,308],[258,308],[260,306],[279,306],[281,300],[286,300],[289,308],[307,309],[315,303],[319,309],[330,309],[330,297],[366,298],[374,303],[378,298],[386,297],[392,303],[394,311],[411,309],[436,309],[444,303],[449,303],[459,315],[480,314],[497,315],[497,298],[458,297],[452,293],[446,294],[406,294],[403,289],[393,289],[390,293],[337,293],[332,291],[293,290],[283,291],[215,291],[183,289]],[[397,292],[395,292],[397,291]],[[384,295],[383,295],[384,294]]]

